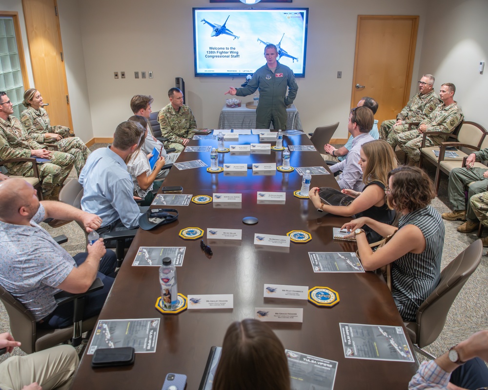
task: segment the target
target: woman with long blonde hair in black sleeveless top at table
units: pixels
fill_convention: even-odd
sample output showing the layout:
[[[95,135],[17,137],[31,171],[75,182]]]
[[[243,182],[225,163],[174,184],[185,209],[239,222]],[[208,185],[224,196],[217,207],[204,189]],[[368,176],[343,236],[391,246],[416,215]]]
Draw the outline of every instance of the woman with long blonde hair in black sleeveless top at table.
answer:
[[[322,203],[319,188],[313,187],[309,192],[310,200],[317,209],[327,213],[342,216],[370,217],[376,221],[391,225],[395,219],[395,211],[386,204],[385,187],[388,184],[388,172],[396,168],[397,160],[391,146],[384,140],[378,139],[363,144],[360,151],[359,165],[363,170],[362,192],[345,189],[342,193],[354,197],[348,206],[331,206]],[[382,236],[374,232],[369,226],[365,228],[368,242],[381,240]]]

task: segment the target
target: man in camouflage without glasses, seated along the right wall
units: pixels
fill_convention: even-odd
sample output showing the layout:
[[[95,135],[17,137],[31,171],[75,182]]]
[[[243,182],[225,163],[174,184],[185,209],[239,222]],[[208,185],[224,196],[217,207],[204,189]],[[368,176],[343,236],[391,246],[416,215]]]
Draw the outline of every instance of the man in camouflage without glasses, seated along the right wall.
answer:
[[[402,134],[398,134],[397,142],[400,149],[402,149],[410,158],[410,163],[417,163],[420,160],[420,148],[422,145],[423,133],[427,131],[438,131],[441,133],[452,133],[456,126],[461,123],[464,118],[463,112],[458,107],[457,102],[454,101],[454,93],[456,87],[454,84],[448,82],[441,85],[439,96],[442,104],[422,122],[416,130],[410,130]],[[440,145],[446,140],[445,135],[430,135],[426,138],[425,146]]]

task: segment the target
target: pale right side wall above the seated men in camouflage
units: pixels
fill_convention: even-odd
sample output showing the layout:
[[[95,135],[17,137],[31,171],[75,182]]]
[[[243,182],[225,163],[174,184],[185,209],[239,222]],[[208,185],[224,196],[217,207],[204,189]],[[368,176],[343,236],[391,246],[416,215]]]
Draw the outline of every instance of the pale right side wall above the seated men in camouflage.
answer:
[[[465,120],[488,130],[488,68],[483,75],[478,71],[479,62],[488,61],[488,1],[444,0],[442,7],[430,4],[428,11],[420,69],[431,69],[436,91],[444,82],[454,83],[454,99]]]

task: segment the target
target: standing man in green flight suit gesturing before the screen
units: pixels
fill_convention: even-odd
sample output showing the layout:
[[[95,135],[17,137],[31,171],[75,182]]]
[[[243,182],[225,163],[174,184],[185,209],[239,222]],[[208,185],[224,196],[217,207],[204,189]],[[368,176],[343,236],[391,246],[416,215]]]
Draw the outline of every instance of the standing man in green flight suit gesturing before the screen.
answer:
[[[273,44],[264,47],[266,65],[259,68],[244,88],[230,89],[224,94],[247,96],[259,88],[259,103],[256,109],[256,128],[286,130],[286,106],[297,96],[298,85],[293,71],[276,59],[278,49]],[[288,88],[288,96],[286,96]]]

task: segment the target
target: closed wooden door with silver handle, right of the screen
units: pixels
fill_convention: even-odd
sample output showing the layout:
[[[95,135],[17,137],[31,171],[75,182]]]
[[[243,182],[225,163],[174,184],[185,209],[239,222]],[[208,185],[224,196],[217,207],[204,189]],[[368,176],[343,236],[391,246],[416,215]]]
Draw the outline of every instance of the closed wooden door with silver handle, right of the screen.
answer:
[[[378,125],[396,118],[410,98],[418,23],[418,16],[358,15],[351,107],[374,98]]]

